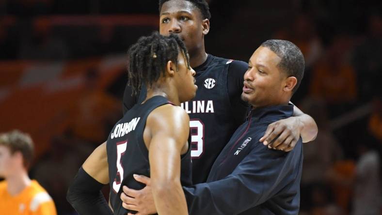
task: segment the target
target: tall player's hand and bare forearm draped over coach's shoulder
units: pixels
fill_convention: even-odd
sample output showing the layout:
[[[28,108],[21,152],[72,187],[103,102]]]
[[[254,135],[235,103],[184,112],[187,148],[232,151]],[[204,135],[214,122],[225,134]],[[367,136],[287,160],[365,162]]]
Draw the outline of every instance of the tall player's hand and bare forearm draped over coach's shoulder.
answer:
[[[318,127],[314,119],[294,106],[293,116],[269,124],[260,142],[269,148],[289,152],[300,136],[302,142],[310,142],[317,137],[317,133]]]

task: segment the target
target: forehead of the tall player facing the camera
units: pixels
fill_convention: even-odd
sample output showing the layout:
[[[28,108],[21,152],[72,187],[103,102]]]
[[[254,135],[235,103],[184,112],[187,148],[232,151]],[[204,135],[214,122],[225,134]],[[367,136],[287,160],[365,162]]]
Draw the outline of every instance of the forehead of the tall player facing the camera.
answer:
[[[198,13],[198,8],[188,0],[169,0],[163,3],[160,9],[160,15],[189,13],[191,15]]]

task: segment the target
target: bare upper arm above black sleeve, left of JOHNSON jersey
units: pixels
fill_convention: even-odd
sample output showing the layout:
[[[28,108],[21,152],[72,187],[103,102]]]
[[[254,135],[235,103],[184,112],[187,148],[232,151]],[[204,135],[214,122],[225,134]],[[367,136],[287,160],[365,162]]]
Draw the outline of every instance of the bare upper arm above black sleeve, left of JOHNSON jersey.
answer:
[[[97,182],[109,184],[108,155],[106,153],[106,141],[99,145],[85,160],[82,168]]]

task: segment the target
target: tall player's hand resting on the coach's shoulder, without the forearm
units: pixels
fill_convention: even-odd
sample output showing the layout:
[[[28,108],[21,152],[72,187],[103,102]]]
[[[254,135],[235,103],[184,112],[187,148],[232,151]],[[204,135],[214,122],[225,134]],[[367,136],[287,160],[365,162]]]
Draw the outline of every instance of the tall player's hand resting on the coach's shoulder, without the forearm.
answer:
[[[297,117],[289,117],[268,125],[260,142],[270,149],[291,151],[300,138],[302,123]]]

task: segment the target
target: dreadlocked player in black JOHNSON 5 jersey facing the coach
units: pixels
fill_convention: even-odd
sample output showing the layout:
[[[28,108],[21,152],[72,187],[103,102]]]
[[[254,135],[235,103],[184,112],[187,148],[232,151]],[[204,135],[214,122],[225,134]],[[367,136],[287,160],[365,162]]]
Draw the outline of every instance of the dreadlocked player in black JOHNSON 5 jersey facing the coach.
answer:
[[[155,32],[130,47],[129,83],[133,93],[144,84],[147,97],[114,125],[106,142],[115,215],[131,212],[122,207],[121,185],[143,188],[134,180],[135,173],[153,179],[158,213],[188,214],[182,185],[191,185],[190,119],[179,106],[195,96],[194,75],[187,49],[175,35]]]

